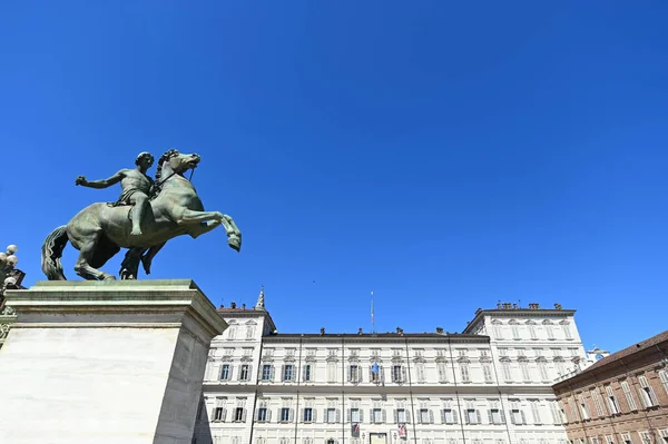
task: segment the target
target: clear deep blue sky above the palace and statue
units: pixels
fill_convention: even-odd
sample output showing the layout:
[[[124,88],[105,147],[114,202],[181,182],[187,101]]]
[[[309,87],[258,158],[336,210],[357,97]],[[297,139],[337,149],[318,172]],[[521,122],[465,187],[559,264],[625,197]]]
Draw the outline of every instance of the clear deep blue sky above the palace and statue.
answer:
[[[369,330],[372,289],[379,330],[561,303],[617,349],[667,327],[667,22],[665,1],[2,2],[0,241],[42,279],[47,234],[118,197],[78,175],[176,147],[244,246],[175,239],[151,277],[225,305],[264,284],[283,332]]]

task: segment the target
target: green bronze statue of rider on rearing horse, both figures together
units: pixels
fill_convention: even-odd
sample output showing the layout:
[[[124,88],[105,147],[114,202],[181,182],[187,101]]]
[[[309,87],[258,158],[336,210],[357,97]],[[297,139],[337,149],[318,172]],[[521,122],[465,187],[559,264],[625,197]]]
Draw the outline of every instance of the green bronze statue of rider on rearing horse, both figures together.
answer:
[[[107,188],[120,181],[122,193],[114,204],[89,205],[47,236],[41,264],[49,280],[66,279],[60,258],[68,240],[79,250],[75,272],[89,280],[116,278],[99,268],[120,248],[128,248],[121,278],[136,278],[139,262],[149,274],[153,258],[169,239],[181,235],[196,238],[218,225],[227,233],[227,244],[240,250],[242,234],[232,217],[205,211],[195,187],[184,177],[184,172],[197,167],[200,157],[168,150],[158,160],[155,181],[146,175],[153,160],[150,154],[141,152],[135,169],[121,169],[104,180],[77,178],[76,185],[91,188]]]

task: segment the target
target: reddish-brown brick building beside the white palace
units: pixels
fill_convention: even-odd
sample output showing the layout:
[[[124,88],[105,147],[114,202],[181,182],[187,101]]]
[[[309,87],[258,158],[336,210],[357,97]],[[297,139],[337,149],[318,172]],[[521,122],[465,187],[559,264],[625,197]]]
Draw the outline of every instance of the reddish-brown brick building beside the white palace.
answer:
[[[553,386],[573,444],[668,443],[668,332]]]

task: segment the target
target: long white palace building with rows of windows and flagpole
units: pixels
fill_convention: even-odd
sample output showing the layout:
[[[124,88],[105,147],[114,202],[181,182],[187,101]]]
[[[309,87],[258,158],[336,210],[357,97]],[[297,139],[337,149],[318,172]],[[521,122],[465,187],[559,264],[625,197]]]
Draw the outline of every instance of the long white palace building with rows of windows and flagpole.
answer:
[[[194,442],[566,444],[551,385],[586,354],[573,310],[479,309],[461,334],[277,334],[219,309]]]

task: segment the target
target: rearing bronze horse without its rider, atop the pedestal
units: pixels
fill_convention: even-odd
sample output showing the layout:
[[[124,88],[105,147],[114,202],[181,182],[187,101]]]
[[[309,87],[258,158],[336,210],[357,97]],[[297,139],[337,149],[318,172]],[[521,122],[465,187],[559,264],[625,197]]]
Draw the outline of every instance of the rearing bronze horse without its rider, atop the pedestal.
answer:
[[[89,280],[116,279],[98,268],[120,248],[130,248],[124,266],[135,269],[126,276],[134,278],[138,260],[135,262],[132,257],[141,259],[148,274],[153,257],[167,240],[181,235],[196,238],[218,225],[223,225],[227,233],[227,244],[240,250],[242,234],[232,217],[219,211],[205,211],[195,187],[184,177],[184,172],[196,168],[199,160],[198,155],[185,155],[175,149],[160,157],[156,175],[159,193],[150,203],[151,210],[145,216],[141,224],[144,234],[140,236],[130,236],[129,211],[132,207],[106,203],[89,205],[67,225],[51,231],[45,239],[41,255],[41,267],[47,278],[66,279],[60,258],[68,240],[79,250],[75,272]]]

